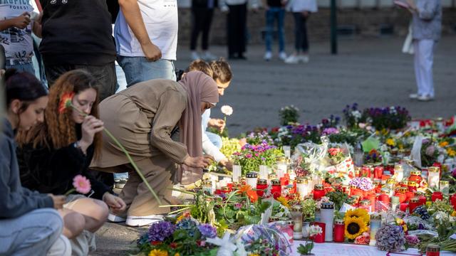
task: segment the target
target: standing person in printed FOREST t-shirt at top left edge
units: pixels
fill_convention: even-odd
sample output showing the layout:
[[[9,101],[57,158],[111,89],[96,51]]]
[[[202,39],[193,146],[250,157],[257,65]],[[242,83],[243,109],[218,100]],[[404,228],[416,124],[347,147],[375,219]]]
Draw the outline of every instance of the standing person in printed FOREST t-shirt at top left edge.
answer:
[[[3,1],[3,3],[10,1]],[[33,69],[33,40],[31,32],[41,36],[41,23],[28,1],[0,4],[0,43],[5,48],[6,68],[35,74]]]

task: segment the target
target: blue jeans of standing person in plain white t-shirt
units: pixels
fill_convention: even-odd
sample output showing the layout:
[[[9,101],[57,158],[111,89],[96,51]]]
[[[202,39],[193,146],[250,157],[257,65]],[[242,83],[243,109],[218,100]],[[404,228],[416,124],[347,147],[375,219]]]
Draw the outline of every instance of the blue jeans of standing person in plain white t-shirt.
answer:
[[[118,56],[118,63],[125,73],[127,87],[152,79],[176,80],[172,60],[148,61],[145,57]]]

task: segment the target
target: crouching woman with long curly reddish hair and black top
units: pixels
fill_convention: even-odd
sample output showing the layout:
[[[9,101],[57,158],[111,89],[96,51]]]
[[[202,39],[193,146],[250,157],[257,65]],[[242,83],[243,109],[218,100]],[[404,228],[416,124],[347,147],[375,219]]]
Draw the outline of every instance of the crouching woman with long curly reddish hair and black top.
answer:
[[[108,206],[125,210],[125,203],[88,173],[90,161],[100,156],[103,130],[103,122],[98,119],[97,86],[97,80],[83,70],[62,75],[49,92],[44,122],[17,137],[24,186],[41,193],[64,194],[73,188],[73,178],[78,174],[90,180],[91,197],[96,199],[72,194],[61,210],[63,234],[73,239],[73,255],[87,254],[93,237],[90,233],[105,223]],[[78,110],[61,106],[62,97],[71,94]]]

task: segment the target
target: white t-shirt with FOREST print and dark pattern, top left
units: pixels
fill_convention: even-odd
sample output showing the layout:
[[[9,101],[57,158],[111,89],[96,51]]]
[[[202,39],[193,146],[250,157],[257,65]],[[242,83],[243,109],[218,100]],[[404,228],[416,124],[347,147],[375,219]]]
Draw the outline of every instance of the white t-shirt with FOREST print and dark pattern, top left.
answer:
[[[0,1],[5,2],[5,1]],[[33,6],[29,1],[11,1],[14,4],[0,4],[0,18],[2,20],[16,18],[24,12],[31,14]],[[24,29],[11,27],[0,31],[0,43],[5,48],[6,65],[22,65],[31,63],[33,56],[33,41],[31,30],[33,21]]]

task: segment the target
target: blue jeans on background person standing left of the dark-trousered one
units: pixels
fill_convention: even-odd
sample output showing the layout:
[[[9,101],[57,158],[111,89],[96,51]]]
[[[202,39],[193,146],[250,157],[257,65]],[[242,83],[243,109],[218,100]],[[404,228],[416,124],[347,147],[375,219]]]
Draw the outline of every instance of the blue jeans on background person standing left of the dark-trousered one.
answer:
[[[279,52],[285,50],[284,35],[285,9],[270,7],[266,11],[266,51],[272,51],[272,33],[274,32],[274,19],[277,20],[277,33],[279,36]]]

